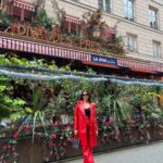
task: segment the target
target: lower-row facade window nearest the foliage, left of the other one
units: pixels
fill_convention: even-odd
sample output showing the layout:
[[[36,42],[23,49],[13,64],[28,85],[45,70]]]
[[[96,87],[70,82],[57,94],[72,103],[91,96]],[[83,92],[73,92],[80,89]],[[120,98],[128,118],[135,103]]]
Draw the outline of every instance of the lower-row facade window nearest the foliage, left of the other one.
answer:
[[[129,51],[137,52],[137,37],[134,35],[127,35],[127,47]]]

